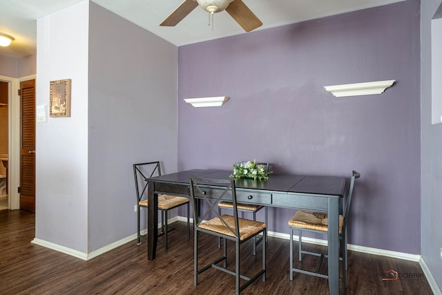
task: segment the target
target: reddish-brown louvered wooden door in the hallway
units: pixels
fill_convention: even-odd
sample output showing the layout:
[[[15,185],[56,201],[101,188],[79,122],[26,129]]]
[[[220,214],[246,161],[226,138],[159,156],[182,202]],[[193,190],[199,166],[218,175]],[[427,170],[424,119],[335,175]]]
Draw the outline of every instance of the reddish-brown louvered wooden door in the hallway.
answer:
[[[35,212],[35,80],[20,83],[20,209]]]

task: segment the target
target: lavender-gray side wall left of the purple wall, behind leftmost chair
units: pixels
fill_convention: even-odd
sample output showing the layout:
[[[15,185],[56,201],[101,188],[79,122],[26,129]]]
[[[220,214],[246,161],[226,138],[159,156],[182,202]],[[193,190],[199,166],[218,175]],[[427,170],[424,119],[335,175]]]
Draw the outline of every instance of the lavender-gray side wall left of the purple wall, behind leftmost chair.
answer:
[[[93,250],[137,228],[133,163],[160,160],[163,173],[176,172],[177,47],[92,2],[89,34],[88,240]]]

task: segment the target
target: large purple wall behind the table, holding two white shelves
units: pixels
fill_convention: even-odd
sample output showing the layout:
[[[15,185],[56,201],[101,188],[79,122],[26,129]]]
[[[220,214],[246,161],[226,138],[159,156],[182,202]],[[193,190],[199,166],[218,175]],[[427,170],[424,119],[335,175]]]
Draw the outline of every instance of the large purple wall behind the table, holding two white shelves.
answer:
[[[349,243],[420,254],[419,2],[181,46],[178,170],[273,163],[274,173],[359,171]],[[323,86],[396,79],[382,95]],[[221,108],[183,98],[229,96]],[[288,233],[294,210],[269,209]]]

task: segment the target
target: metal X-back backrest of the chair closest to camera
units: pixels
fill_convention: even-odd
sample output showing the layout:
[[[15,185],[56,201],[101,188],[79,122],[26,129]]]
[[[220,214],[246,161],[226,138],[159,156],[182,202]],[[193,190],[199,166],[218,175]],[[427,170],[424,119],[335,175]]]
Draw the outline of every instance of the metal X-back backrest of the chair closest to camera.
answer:
[[[236,185],[233,179],[213,179],[199,178],[191,175],[190,177],[190,195],[193,206],[193,224],[199,227],[204,220],[217,216],[227,228],[237,238],[240,236],[238,225],[238,209],[236,207]],[[211,186],[211,188],[209,187]],[[217,187],[213,189],[213,187]],[[200,202],[200,214],[198,214],[198,199]],[[224,221],[222,215],[218,213],[218,203],[229,200],[233,204],[233,218],[235,219],[235,228],[229,227]],[[205,205],[205,206],[204,206]]]

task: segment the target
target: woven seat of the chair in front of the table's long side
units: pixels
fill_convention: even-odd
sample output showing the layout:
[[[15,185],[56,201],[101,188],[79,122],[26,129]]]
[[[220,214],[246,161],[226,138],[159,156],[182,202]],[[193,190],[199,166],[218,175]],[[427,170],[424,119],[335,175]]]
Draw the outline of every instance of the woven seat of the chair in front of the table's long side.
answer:
[[[227,225],[229,225],[229,227],[231,227],[233,230],[235,229],[235,218],[233,218],[233,216],[222,215],[221,217],[224,219]],[[238,222],[240,225],[240,240],[246,240],[266,227],[265,222],[258,222],[244,218],[238,218]],[[231,230],[224,225],[219,217],[202,222],[200,224],[200,228],[235,237],[235,234],[233,234]]]

